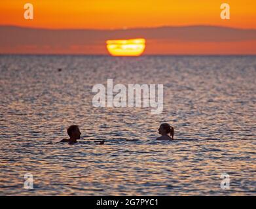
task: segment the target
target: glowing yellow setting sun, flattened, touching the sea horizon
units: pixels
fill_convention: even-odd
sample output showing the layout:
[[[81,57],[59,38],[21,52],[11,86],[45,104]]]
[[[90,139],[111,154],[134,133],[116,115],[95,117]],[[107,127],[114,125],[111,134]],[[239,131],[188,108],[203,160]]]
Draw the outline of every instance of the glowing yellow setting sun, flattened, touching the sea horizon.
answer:
[[[111,56],[141,56],[145,50],[145,39],[107,40]]]

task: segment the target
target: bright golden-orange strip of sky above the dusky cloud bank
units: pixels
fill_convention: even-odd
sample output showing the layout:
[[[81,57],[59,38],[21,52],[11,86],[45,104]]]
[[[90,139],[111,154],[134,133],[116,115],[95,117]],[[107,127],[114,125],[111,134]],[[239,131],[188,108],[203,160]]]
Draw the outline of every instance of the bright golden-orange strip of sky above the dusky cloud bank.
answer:
[[[34,20],[24,20],[25,3],[33,4]],[[230,20],[221,20],[221,3],[229,3]],[[117,29],[203,24],[256,29],[255,20],[255,0],[0,1],[0,25]]]

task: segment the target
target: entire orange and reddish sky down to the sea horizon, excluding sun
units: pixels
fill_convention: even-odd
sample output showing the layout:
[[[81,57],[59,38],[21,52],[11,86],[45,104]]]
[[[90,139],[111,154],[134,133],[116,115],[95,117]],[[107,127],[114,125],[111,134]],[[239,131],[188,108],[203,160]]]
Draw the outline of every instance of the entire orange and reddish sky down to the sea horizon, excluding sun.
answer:
[[[26,3],[33,4],[33,20],[24,19]],[[221,3],[229,3],[230,20],[221,20]],[[0,25],[45,29],[129,29],[219,25],[256,29],[256,0],[0,0]],[[19,30],[17,32],[17,30],[1,28],[0,54],[107,54],[105,46],[107,37],[105,36],[92,44],[90,39],[94,38],[94,35],[92,37],[89,35],[88,39],[82,36],[77,42],[79,34],[89,34],[81,31],[74,32],[70,36],[62,31],[58,33],[58,39],[54,38],[56,31],[56,33],[43,33],[40,30],[32,33],[31,31],[30,38],[27,39],[28,32]],[[128,33],[127,31],[129,30],[125,33]],[[206,32],[198,33],[198,31],[200,29],[194,28],[183,36],[189,39],[189,37],[193,38],[193,34],[198,37]],[[219,30],[214,34],[218,39],[209,41],[177,40],[179,39],[177,36],[172,39],[172,33],[168,35],[168,40],[164,38],[158,41],[155,36],[154,39],[146,40],[145,54],[256,54],[256,36],[249,35],[255,32],[246,31],[247,38],[237,38],[244,31],[229,33],[230,39],[224,41],[218,39],[227,37],[227,33],[220,34]],[[103,31],[100,33],[108,34]],[[124,33],[122,34],[125,36]],[[166,32],[162,32],[162,35],[164,34]],[[206,37],[212,35],[209,31],[204,34]],[[128,38],[144,38],[134,36]],[[124,39],[124,37],[115,37],[115,39]]]

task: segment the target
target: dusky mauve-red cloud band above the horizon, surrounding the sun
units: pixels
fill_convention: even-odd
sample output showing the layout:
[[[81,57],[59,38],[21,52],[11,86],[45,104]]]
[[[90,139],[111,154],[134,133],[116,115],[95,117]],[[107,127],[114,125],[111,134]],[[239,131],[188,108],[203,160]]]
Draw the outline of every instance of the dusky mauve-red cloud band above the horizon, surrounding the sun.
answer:
[[[0,53],[107,54],[105,40],[134,38],[146,39],[146,54],[154,54],[154,52],[156,54],[175,54],[175,51],[177,54],[191,54],[192,48],[187,47],[192,46],[186,46],[187,44],[192,44],[193,47],[198,46],[194,50],[195,54],[216,54],[218,52],[216,44],[225,46],[219,48],[220,54],[230,54],[232,44],[234,46],[237,44],[238,47],[235,54],[256,54],[256,50],[253,50],[256,48],[256,29],[235,29],[209,25],[125,30],[33,29],[7,25],[0,26]],[[215,48],[211,46],[213,43]],[[208,44],[210,45],[208,46]],[[168,45],[170,50],[168,50]],[[210,46],[215,49],[212,53],[208,51]],[[182,48],[184,52],[181,50]],[[202,52],[198,52],[200,48],[202,48]],[[242,50],[241,53],[239,48]],[[225,53],[225,49],[227,49],[227,53]]]

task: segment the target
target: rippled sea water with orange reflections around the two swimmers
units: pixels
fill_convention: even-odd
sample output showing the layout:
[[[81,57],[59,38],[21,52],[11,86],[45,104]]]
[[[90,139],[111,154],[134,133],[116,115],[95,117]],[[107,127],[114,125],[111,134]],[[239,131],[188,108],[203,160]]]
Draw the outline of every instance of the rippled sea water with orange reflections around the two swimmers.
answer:
[[[164,84],[164,111],[93,108],[107,78]],[[0,93],[0,195],[256,195],[255,56],[0,56]]]

